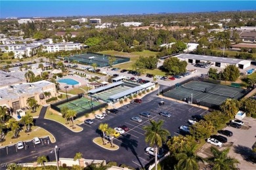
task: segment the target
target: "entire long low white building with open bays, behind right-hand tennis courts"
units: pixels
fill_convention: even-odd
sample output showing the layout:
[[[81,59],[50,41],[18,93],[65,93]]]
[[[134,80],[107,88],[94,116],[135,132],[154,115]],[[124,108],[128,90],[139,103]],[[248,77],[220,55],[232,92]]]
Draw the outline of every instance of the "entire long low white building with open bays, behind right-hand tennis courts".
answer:
[[[251,61],[236,58],[222,58],[215,56],[202,56],[196,54],[179,54],[175,56],[188,63],[209,62],[212,66],[225,68],[228,65],[236,65],[239,69],[245,69],[251,65]]]

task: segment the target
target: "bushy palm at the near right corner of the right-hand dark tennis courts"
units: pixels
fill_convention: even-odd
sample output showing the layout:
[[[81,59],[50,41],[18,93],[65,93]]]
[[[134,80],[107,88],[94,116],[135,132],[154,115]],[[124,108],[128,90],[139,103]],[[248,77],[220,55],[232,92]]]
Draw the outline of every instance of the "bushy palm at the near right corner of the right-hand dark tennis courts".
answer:
[[[224,114],[232,118],[239,110],[239,103],[236,99],[226,99],[221,105],[221,110]]]

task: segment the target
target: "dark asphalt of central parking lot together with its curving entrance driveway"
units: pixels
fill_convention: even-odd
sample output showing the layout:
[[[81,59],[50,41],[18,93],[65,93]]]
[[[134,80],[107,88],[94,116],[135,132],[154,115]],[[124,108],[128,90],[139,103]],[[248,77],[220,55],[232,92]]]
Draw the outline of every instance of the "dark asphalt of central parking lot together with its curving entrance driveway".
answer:
[[[158,102],[165,101],[165,105],[160,106]],[[103,120],[94,120],[91,125],[81,124],[83,131],[74,133],[57,122],[45,119],[37,119],[36,125],[43,127],[53,133],[56,138],[54,144],[44,144],[33,148],[33,150],[18,150],[6,154],[6,148],[1,148],[1,163],[6,162],[28,162],[35,161],[37,156],[48,156],[50,161],[55,160],[54,153],[51,153],[54,146],[58,146],[58,156],[60,158],[74,158],[75,153],[81,152],[85,159],[116,161],[118,164],[124,163],[135,168],[144,167],[149,161],[153,160],[146,154],[144,149],[148,144],[144,141],[143,127],[150,124],[149,118],[141,117],[142,122],[137,123],[131,120],[133,116],[139,116],[142,111],[150,112],[152,120],[163,120],[163,128],[170,131],[171,135],[179,135],[179,126],[186,125],[188,118],[194,114],[204,114],[205,109],[193,107],[186,103],[177,103],[161,99],[155,92],[146,95],[142,103],[129,104],[129,107],[120,107],[117,114],[108,114]],[[171,118],[165,118],[158,113],[166,110],[171,113]],[[129,131],[124,133],[114,143],[119,146],[119,150],[110,151],[101,148],[93,143],[95,137],[100,136],[98,126],[100,123],[107,123],[110,127],[126,125]],[[32,146],[30,146],[32,148]],[[3,153],[3,154],[2,154]],[[29,153],[29,154],[28,154]]]

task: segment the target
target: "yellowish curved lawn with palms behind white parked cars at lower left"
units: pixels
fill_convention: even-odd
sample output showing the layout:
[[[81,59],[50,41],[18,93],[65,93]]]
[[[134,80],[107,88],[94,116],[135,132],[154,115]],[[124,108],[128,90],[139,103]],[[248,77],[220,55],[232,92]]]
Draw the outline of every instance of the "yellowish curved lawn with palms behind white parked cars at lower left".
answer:
[[[18,134],[18,137],[15,139],[12,139],[13,133],[12,131],[9,131],[7,135],[5,136],[5,141],[1,142],[3,146],[7,146],[10,143],[17,143],[18,141],[28,141],[32,140],[34,137],[45,137],[45,136],[50,136],[52,142],[55,142],[55,139],[49,131],[46,131],[45,129],[38,127],[38,126],[32,126],[31,129],[32,131],[30,132],[25,132],[26,127],[23,127],[23,130],[20,131]]]

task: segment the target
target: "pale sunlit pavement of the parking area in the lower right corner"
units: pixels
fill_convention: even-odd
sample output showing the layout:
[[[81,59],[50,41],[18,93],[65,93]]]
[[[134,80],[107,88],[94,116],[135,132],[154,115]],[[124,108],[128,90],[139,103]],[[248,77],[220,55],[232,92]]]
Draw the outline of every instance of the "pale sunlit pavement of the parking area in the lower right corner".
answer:
[[[230,126],[226,126],[224,128],[224,130],[232,131],[233,135],[232,137],[226,137],[223,135],[228,139],[228,142],[224,143],[219,149],[223,150],[230,147],[230,152],[228,155],[240,161],[240,164],[238,164],[240,169],[255,169],[255,165],[247,161],[247,158],[251,154],[253,144],[256,142],[256,120],[254,118],[245,117],[243,122],[244,125],[240,129]],[[203,158],[213,156],[210,151],[211,146],[213,146],[213,144],[206,143],[200,152],[198,152],[198,155],[202,156]]]

